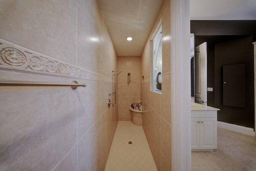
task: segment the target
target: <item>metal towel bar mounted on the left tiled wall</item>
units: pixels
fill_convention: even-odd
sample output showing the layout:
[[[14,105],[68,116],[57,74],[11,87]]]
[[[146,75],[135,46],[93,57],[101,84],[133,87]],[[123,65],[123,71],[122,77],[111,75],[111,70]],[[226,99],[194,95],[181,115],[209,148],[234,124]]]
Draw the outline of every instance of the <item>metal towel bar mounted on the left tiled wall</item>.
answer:
[[[32,82],[32,81],[10,81],[0,80],[0,86],[71,86],[73,90],[77,87],[86,87],[86,84],[78,84],[77,81],[71,83],[45,83],[45,82]]]

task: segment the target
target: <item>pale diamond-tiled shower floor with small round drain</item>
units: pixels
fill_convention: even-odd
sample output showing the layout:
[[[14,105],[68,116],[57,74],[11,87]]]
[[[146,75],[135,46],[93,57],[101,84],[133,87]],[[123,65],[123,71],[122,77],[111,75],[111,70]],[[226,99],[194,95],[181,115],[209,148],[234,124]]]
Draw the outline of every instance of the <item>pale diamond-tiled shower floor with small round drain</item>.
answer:
[[[157,171],[142,126],[118,121],[105,171]]]

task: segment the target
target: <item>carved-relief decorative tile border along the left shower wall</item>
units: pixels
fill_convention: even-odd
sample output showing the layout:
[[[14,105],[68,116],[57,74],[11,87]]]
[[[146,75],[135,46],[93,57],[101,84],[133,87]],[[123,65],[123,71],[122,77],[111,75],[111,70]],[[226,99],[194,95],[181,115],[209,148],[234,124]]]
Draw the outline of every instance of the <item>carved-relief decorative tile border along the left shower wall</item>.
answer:
[[[112,82],[112,79],[0,39],[0,69]]]

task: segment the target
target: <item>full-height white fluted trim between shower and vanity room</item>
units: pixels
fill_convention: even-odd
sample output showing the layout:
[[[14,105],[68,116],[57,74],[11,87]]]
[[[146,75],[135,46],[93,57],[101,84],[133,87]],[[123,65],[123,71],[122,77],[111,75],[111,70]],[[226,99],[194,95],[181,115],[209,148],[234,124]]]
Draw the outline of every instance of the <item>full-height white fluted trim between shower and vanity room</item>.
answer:
[[[171,0],[170,20],[172,171],[190,171],[190,1]]]

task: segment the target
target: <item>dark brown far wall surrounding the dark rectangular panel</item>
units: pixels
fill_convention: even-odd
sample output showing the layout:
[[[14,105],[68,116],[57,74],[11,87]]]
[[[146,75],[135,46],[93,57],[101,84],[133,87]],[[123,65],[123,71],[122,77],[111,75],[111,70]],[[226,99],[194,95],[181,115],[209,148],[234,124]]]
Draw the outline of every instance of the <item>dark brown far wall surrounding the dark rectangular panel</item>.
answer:
[[[223,106],[222,66],[244,63],[245,107]],[[252,36],[215,45],[215,107],[220,108],[218,121],[254,128],[254,59]]]

